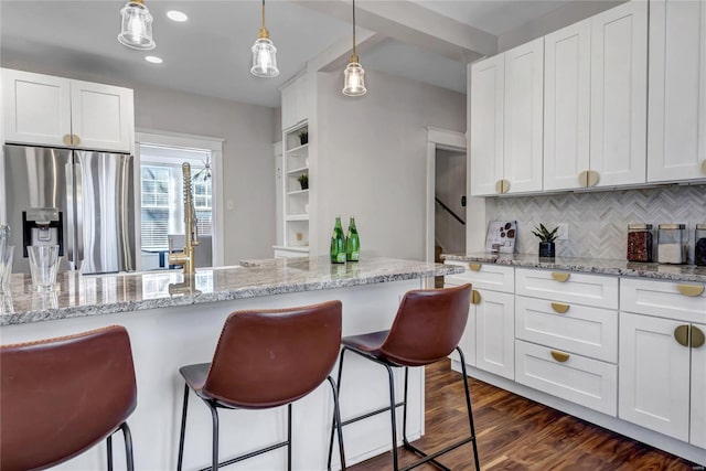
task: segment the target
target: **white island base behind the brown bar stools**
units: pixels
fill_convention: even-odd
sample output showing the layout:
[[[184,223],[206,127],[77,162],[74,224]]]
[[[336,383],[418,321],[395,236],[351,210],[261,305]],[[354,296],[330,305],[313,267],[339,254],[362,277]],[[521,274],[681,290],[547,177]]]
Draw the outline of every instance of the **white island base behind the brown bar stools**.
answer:
[[[86,315],[42,322],[3,325],[3,344],[73,334],[110,324],[124,325],[129,334],[137,374],[138,404],[128,419],[132,431],[136,470],[174,470],[179,448],[184,383],[179,367],[210,362],[226,317],[240,309],[296,307],[339,299],[343,302],[343,335],[389,329],[400,297],[420,288],[420,279],[344,288],[280,293],[220,302],[197,303]],[[372,362],[346,355],[341,390],[343,419],[387,404],[386,371]],[[402,371],[396,372],[397,392],[403,392]],[[332,373],[335,378],[335,371]],[[424,374],[410,371],[408,435],[424,433]],[[189,403],[184,470],[210,464],[211,415],[193,393]],[[292,469],[325,470],[332,415],[331,388],[324,382],[315,392],[295,403]],[[286,437],[286,407],[272,410],[222,410],[221,459],[239,456]],[[402,420],[399,420],[402,424]],[[400,427],[402,428],[402,427]],[[389,417],[345,427],[347,464],[391,449]],[[400,437],[398,432],[398,437]],[[38,443],[41,447],[41,443]],[[114,436],[116,469],[125,469],[121,433]],[[334,469],[340,468],[334,448]],[[105,470],[105,441],[65,462],[57,470]],[[227,467],[228,470],[286,469],[286,449]]]

